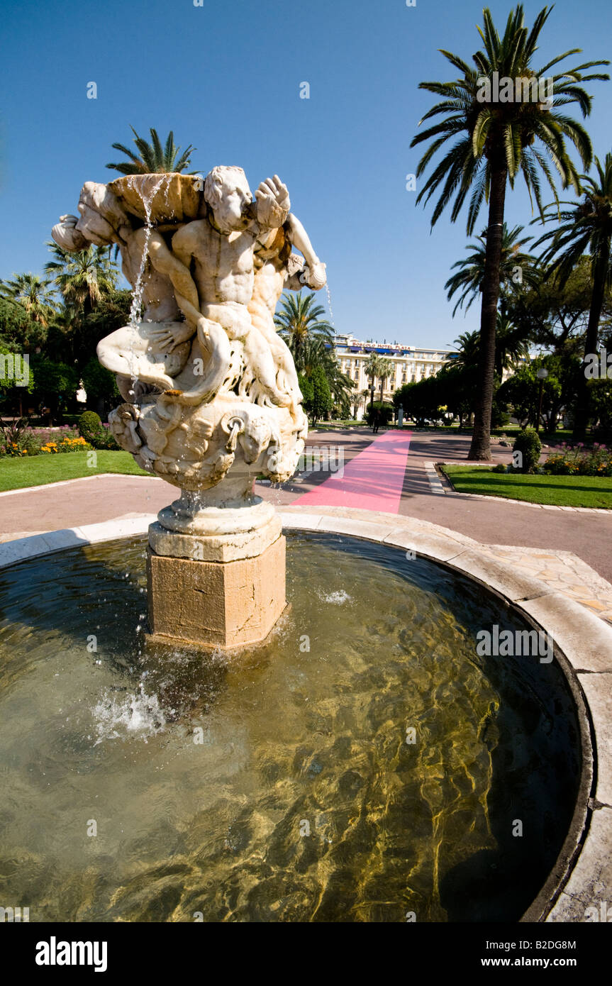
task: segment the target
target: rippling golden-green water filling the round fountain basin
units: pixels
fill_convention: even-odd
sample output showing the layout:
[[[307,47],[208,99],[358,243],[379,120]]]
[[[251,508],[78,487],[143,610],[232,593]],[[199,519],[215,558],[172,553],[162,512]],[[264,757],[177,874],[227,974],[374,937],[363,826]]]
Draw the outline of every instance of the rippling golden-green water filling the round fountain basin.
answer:
[[[99,836],[83,835],[83,845],[75,850],[75,838],[67,834],[77,823],[73,816],[65,819],[59,837],[47,833],[42,822],[30,834],[22,826],[22,845],[13,846],[13,853],[21,852],[24,864],[33,857],[31,879],[45,860],[53,874],[50,886],[36,890],[46,901],[45,916],[33,915],[31,920],[194,920],[193,915],[201,913],[204,920],[403,921],[407,912],[426,921],[492,920],[496,915],[516,920],[534,897],[541,897],[538,890],[551,868],[548,879],[555,885],[565,879],[571,855],[567,845],[568,858],[560,863],[560,856],[568,830],[576,841],[583,825],[584,806],[580,802],[574,811],[574,805],[583,794],[589,749],[575,699],[557,663],[552,666],[554,687],[551,668],[529,665],[519,669],[520,687],[516,682],[510,687],[508,695],[513,693],[514,699],[507,695],[500,702],[500,683],[508,669],[478,666],[469,627],[475,628],[474,618],[483,625],[486,606],[487,618],[510,619],[506,603],[487,596],[483,609],[482,591],[473,583],[460,580],[458,585],[452,582],[456,576],[428,568],[421,559],[408,561],[397,549],[373,548],[354,539],[301,543],[302,561],[292,564],[292,557],[298,558],[295,541],[289,553],[292,612],[250,660],[244,661],[242,654],[233,664],[231,657],[229,662],[220,657],[208,674],[203,674],[201,662],[179,652],[137,654],[137,610],[144,613],[144,542],[132,543],[129,554],[126,549],[117,552],[115,544],[46,561],[45,571],[60,562],[74,564],[73,556],[78,555],[79,572],[88,570],[88,578],[94,565],[96,584],[90,593],[83,593],[83,578],[76,580],[85,622],[81,617],[75,622],[74,599],[66,608],[66,599],[52,603],[45,594],[43,604],[39,591],[37,601],[30,601],[24,611],[22,590],[33,585],[33,573],[27,566],[12,570],[17,608],[11,616],[5,606],[4,615],[21,629],[10,631],[17,639],[9,640],[9,698],[16,700],[27,672],[31,685],[33,674],[42,669],[51,684],[56,673],[60,679],[69,677],[70,708],[66,710],[62,700],[61,716],[48,698],[43,700],[42,682],[42,691],[34,689],[51,721],[41,723],[30,740],[30,733],[23,735],[26,760],[35,764],[44,738],[53,735],[46,766],[60,784],[59,789],[54,784],[54,790],[63,788],[65,810],[76,811],[76,802],[87,814],[85,821],[95,818],[96,806],[90,808],[88,798],[104,786],[106,801],[112,802],[106,821],[102,819],[102,846],[96,841]],[[307,572],[305,552],[311,558]],[[348,569],[340,574],[339,562],[347,558],[351,577]],[[126,571],[131,601],[126,599]],[[15,583],[20,573],[21,589]],[[40,577],[49,587],[66,583],[58,575],[54,571]],[[306,578],[306,593],[296,591],[295,580],[301,578]],[[317,583],[317,578],[322,581]],[[74,593],[74,578],[66,584],[66,592]],[[2,589],[4,597],[8,587]],[[131,610],[125,608],[128,602]],[[58,609],[71,613],[69,632],[61,628]],[[520,617],[512,614],[511,619],[524,625]],[[445,643],[434,636],[442,620]],[[20,659],[13,645],[20,634],[32,640],[32,625],[36,636],[41,630],[50,632],[55,670],[49,655],[40,652],[36,658],[35,650],[27,668],[19,669],[24,656]],[[84,632],[93,625],[102,634],[98,657],[87,651],[86,643],[96,630]],[[317,627],[314,632],[312,626]],[[7,624],[3,641],[6,633]],[[300,650],[305,637],[310,638],[309,651]],[[43,651],[48,648],[48,637],[40,646]],[[96,683],[94,675],[100,675]],[[433,690],[428,691],[427,682]],[[466,682],[471,685],[466,687]],[[556,711],[554,705],[546,711],[551,687],[554,701],[561,703]],[[531,733],[524,721],[516,721],[513,731],[502,722],[496,736],[500,709],[506,709],[502,717],[522,715],[525,689],[530,696],[526,704],[535,717]],[[414,704],[417,698],[421,705]],[[433,710],[442,715],[437,725],[431,719]],[[67,727],[62,725],[66,711]],[[26,715],[30,728],[39,714],[40,709],[31,710],[30,718]],[[6,710],[3,717],[6,723]],[[436,726],[436,737],[425,745],[406,742],[411,719],[417,728],[423,723],[430,729]],[[553,732],[538,734],[534,749],[539,763],[525,773],[527,787],[533,786],[527,797],[509,782],[511,763],[524,754],[522,740],[516,748],[512,737],[533,738],[533,722],[540,719]],[[23,709],[19,721],[24,721]],[[193,741],[195,729],[204,730],[203,742]],[[12,748],[20,748],[13,740]],[[417,749],[418,756],[412,756]],[[506,765],[502,774],[500,763]],[[465,770],[468,764],[471,773]],[[79,800],[74,797],[75,784],[79,788],[83,777],[91,782],[90,794],[83,791]],[[44,786],[37,774],[35,783]],[[542,786],[555,803],[553,809],[549,805],[542,810],[543,803],[537,801]],[[522,805],[536,799],[531,823],[539,826],[539,862],[533,859],[526,868],[524,856],[520,867],[508,856],[517,847],[523,853],[526,844],[512,838],[506,826],[504,798],[510,791],[512,809],[516,799]],[[153,805],[155,817],[147,805]],[[561,823],[552,836],[550,822],[555,817],[561,817]],[[108,829],[109,818],[115,819],[116,830]],[[435,829],[434,819],[436,824],[443,822],[443,831]],[[300,825],[306,832],[306,822],[310,833],[302,834]],[[4,832],[6,839],[6,826]],[[3,856],[6,851],[0,839]],[[110,863],[111,856],[115,863]],[[259,869],[254,870],[255,865]],[[86,871],[98,888],[87,899],[77,892]],[[24,877],[28,866],[20,865],[19,872]],[[512,884],[512,875],[524,883],[526,872],[532,885]],[[53,911],[59,906],[60,880],[67,880],[62,901],[77,895],[70,914]],[[11,886],[22,895],[26,892],[24,884],[19,887],[13,881]],[[543,901],[533,906],[547,912],[553,895],[548,887],[548,906]]]

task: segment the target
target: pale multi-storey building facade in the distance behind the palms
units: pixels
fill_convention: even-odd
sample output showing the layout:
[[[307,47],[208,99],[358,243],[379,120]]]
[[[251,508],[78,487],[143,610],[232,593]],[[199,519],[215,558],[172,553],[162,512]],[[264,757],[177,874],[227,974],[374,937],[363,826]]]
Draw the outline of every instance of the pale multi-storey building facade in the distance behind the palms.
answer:
[[[450,349],[424,349],[423,346],[405,346],[387,342],[361,342],[350,334],[334,336],[336,358],[340,368],[347,377],[355,382],[355,403],[359,406],[358,418],[364,416],[367,399],[362,392],[370,389],[371,381],[366,374],[366,364],[374,353],[394,364],[394,371],[384,382],[382,395],[385,400],[392,400],[398,387],[404,384],[415,384],[426,377],[434,377],[442,369],[444,363],[456,355]],[[379,399],[380,381],[375,379],[375,397]],[[360,399],[361,398],[361,399]]]

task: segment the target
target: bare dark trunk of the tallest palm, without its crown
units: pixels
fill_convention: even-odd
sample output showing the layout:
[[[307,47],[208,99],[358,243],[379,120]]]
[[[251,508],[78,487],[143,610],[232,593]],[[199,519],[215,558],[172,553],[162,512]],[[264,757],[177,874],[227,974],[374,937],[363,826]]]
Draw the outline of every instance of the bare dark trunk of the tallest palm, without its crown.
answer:
[[[491,409],[495,375],[495,329],[500,298],[504,205],[508,168],[502,156],[491,164],[489,228],[480,312],[479,390],[474,412],[474,430],[468,458],[491,461]]]

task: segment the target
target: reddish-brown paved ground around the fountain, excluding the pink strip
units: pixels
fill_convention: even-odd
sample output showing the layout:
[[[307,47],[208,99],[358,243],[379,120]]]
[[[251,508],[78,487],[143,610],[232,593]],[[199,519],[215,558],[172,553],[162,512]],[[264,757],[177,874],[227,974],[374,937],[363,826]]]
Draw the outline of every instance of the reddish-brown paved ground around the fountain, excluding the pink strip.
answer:
[[[380,481],[372,469],[373,452],[380,448],[381,465],[388,459],[392,431],[378,437],[364,428],[330,429],[312,433],[309,447],[341,449],[346,466],[370,447],[364,477],[364,506],[368,497],[386,492],[383,470]],[[445,433],[413,432],[409,451],[405,450],[408,431],[397,433],[401,453],[407,452],[401,497],[389,512],[400,517],[429,521],[473,540],[498,560],[504,559],[516,570],[531,575],[570,599],[576,599],[602,618],[612,622],[612,510],[578,512],[533,509],[525,504],[450,493],[440,484],[431,467],[433,462],[464,463],[470,439]],[[398,450],[399,451],[399,450]],[[496,445],[496,461],[508,462],[510,449]],[[1,467],[1,466],[0,466]],[[403,462],[402,462],[403,467]],[[351,506],[358,505],[359,462],[353,462],[347,480]],[[316,491],[316,501],[324,502],[322,485],[330,480],[326,471],[309,471],[282,487],[257,484],[257,491],[278,506],[300,505],[301,498]],[[337,505],[338,479],[331,484],[332,502]],[[128,519],[157,513],[176,499],[176,489],[162,479],[149,476],[96,476],[91,479],[54,483],[0,494],[0,540],[12,540],[43,531],[81,527],[102,521]],[[310,497],[305,499],[305,509]],[[331,499],[331,498],[330,498]]]

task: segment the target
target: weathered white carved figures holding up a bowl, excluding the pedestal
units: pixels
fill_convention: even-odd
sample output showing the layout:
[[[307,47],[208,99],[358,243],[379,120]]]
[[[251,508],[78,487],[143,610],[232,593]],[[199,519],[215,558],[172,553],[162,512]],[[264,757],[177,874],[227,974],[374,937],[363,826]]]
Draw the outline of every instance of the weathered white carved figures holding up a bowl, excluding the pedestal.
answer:
[[[257,472],[281,481],[295,471],[306,415],[274,312],[283,290],[325,284],[278,176],[254,198],[241,168],[214,168],[197,194],[194,181],[88,181],[80,216],[53,228],[68,250],[118,246],[140,294],[142,316],[103,338],[98,354],[124,399],[108,419],[117,442],[183,490],[173,516],[160,515],[172,529],[193,529],[206,505],[252,503]]]

